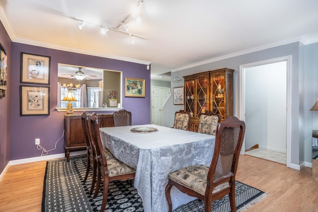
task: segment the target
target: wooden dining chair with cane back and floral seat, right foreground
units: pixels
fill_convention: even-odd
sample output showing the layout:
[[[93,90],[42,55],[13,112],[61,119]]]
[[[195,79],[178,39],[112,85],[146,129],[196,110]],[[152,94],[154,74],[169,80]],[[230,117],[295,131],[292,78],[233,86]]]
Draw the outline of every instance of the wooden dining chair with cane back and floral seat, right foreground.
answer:
[[[236,212],[235,176],[239,152],[245,133],[245,123],[237,117],[228,117],[218,124],[215,147],[210,166],[192,165],[168,175],[165,196],[172,210],[170,190],[178,190],[204,202],[205,212],[212,211],[212,202],[229,194],[231,212]]]

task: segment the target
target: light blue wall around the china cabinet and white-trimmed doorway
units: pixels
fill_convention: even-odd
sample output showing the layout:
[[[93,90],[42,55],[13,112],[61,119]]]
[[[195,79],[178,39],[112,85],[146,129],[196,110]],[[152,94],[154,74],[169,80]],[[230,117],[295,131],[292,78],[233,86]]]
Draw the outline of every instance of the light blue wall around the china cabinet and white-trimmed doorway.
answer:
[[[309,153],[311,146],[309,145],[309,139],[311,139],[311,131],[313,127],[318,129],[318,112],[315,114],[314,120],[316,120],[316,122],[314,125],[313,118],[310,117],[313,116],[315,111],[309,111],[318,97],[318,85],[317,83],[314,83],[314,81],[318,81],[317,43],[304,46],[303,44],[296,42],[216,61],[182,71],[175,71],[171,73],[171,79],[175,76],[183,79],[182,76],[185,75],[221,68],[236,70],[234,72],[234,115],[239,117],[239,66],[286,56],[292,56],[291,81],[293,87],[291,91],[291,163],[304,165],[304,161],[311,163],[311,153]],[[183,84],[183,80],[177,85],[171,82],[171,89],[176,86],[182,86]],[[173,104],[170,107],[171,110],[174,111],[183,109],[182,106],[175,106]],[[173,117],[167,114],[164,116],[164,119],[172,120]]]

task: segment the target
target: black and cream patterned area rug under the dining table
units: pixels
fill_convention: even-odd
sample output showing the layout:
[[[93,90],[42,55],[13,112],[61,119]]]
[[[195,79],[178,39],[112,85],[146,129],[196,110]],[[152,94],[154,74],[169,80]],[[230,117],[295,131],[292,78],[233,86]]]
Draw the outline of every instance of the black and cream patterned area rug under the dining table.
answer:
[[[86,156],[47,161],[42,212],[99,212],[102,203],[102,185],[96,199],[89,194],[91,174],[85,183]],[[127,182],[112,181],[108,187],[105,212],[143,212],[142,199],[136,188]],[[246,184],[236,183],[236,203],[238,212],[247,210],[265,198],[267,194]],[[173,212],[203,212],[204,205],[194,200]],[[230,212],[229,197],[213,202],[213,212]]]

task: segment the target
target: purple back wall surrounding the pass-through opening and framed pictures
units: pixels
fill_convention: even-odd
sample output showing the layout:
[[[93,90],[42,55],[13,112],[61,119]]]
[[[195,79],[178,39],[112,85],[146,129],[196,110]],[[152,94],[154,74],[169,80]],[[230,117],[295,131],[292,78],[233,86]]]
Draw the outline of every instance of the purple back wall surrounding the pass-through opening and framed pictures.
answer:
[[[20,54],[21,52],[51,57],[50,70],[50,115],[49,116],[20,116]],[[11,131],[10,131],[10,160],[36,157],[41,155],[34,144],[36,138],[46,150],[52,149],[55,142],[63,134],[65,112],[57,112],[57,70],[58,63],[100,69],[123,71],[125,77],[145,79],[145,98],[125,97],[123,106],[132,112],[132,124],[150,123],[150,70],[146,65],[124,62],[119,60],[47,49],[31,45],[12,43],[11,64]],[[123,82],[123,90],[124,90]],[[28,84],[33,85],[33,84]],[[44,85],[45,86],[45,85]],[[74,112],[81,113],[81,112]],[[99,113],[107,113],[100,111]],[[110,112],[108,112],[110,113]],[[55,150],[49,154],[64,153],[64,138]],[[1,150],[2,151],[2,150]]]

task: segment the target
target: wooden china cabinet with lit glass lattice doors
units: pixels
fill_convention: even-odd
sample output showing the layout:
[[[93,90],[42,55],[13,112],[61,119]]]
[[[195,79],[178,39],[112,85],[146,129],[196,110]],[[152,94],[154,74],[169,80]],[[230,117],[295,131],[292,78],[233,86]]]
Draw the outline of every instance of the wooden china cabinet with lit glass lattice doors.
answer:
[[[233,72],[223,68],[183,76],[184,110],[191,114],[190,131],[198,132],[200,112],[218,113],[221,121],[233,116]]]

